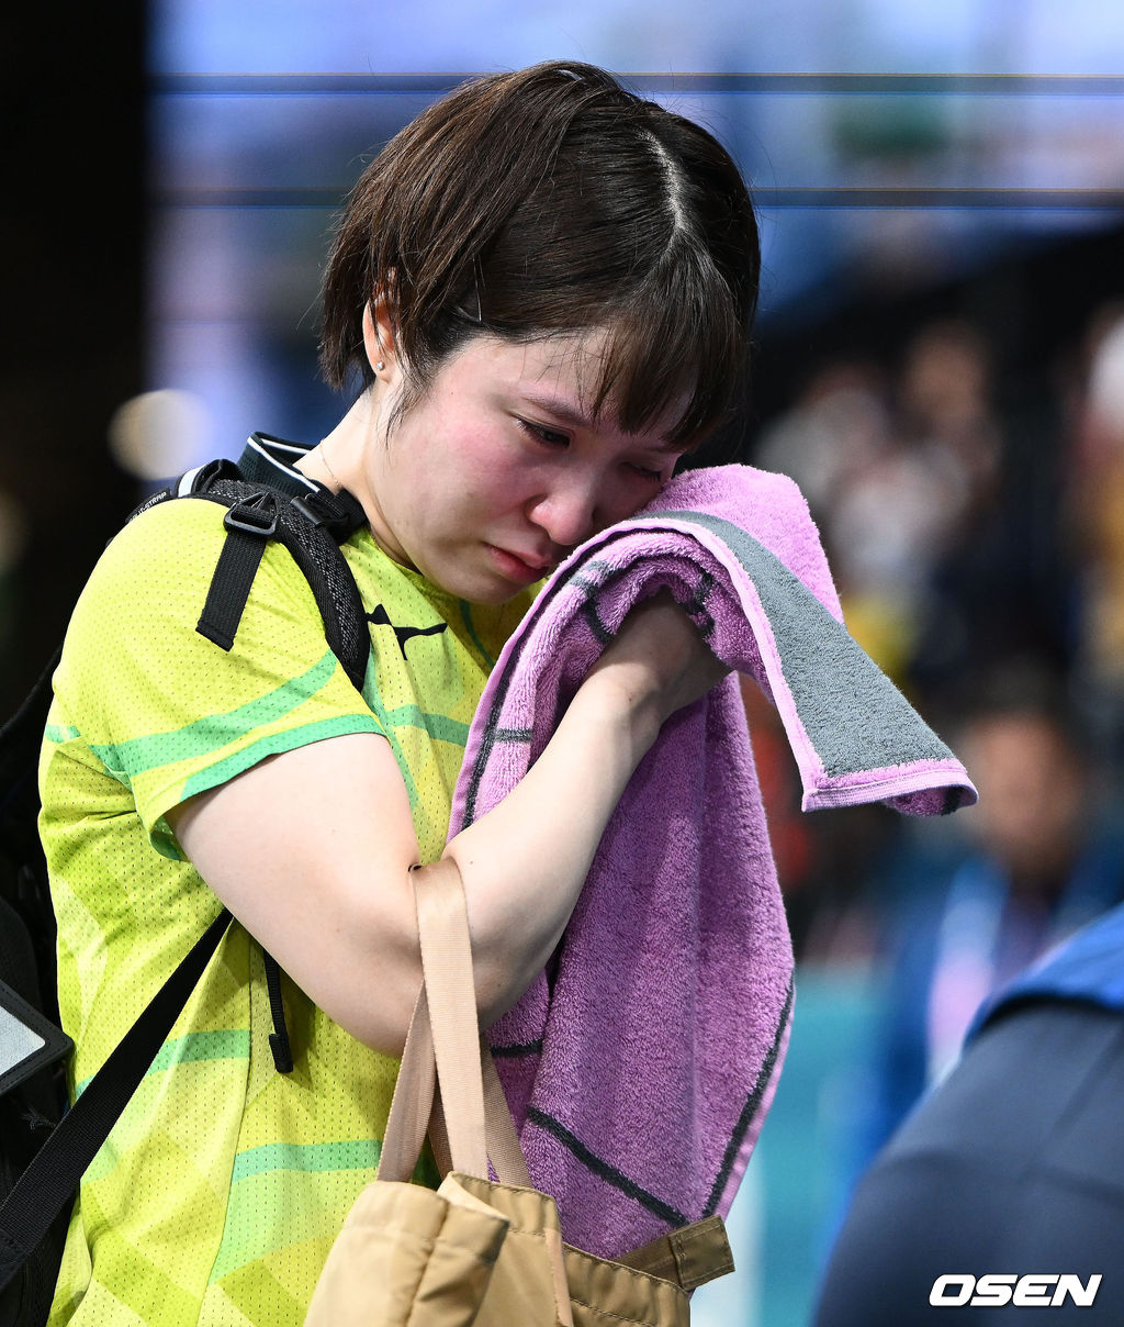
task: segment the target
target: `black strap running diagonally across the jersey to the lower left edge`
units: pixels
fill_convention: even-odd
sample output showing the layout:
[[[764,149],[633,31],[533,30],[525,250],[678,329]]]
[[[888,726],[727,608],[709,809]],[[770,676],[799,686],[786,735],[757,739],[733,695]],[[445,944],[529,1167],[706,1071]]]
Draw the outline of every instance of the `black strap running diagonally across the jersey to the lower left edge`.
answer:
[[[73,1197],[231,925],[224,908],[152,997],[0,1206],[0,1290]]]

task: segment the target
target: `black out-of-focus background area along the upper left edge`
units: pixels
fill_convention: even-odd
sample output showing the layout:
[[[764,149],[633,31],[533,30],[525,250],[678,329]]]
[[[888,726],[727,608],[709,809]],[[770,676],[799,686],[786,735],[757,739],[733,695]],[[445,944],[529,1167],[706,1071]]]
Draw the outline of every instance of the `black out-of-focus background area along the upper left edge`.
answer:
[[[17,7],[5,105],[0,714],[135,504],[106,423],[143,385],[146,7]]]

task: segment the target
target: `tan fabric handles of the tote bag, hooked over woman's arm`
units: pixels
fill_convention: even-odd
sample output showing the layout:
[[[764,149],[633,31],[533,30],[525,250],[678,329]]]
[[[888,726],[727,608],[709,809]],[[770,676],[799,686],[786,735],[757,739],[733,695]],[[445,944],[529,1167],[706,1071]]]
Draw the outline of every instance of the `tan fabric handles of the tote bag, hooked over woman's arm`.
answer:
[[[424,978],[387,1119],[379,1178],[410,1178],[428,1125],[443,1170],[488,1178],[490,1154],[501,1180],[529,1185],[504,1088],[480,1039],[460,871],[452,859],[443,857],[414,880]],[[435,1091],[435,1063],[440,1093]]]

